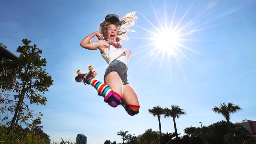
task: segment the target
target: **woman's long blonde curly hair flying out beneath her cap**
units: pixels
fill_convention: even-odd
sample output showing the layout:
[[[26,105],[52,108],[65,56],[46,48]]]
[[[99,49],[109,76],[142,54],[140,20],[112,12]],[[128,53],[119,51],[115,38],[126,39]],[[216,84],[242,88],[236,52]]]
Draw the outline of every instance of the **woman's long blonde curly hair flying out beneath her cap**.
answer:
[[[128,29],[128,27],[133,26],[138,19],[138,17],[135,15],[136,11],[132,11],[131,13],[127,13],[125,17],[123,17],[119,22],[114,23],[114,25],[117,27],[117,39],[116,42],[119,42],[121,40],[129,40],[129,37],[126,35],[128,31],[135,32],[134,30]],[[100,24],[100,33],[103,34],[102,39],[104,41],[109,42],[109,39],[107,37],[108,35],[108,27],[110,24],[113,24],[108,21],[104,21]]]

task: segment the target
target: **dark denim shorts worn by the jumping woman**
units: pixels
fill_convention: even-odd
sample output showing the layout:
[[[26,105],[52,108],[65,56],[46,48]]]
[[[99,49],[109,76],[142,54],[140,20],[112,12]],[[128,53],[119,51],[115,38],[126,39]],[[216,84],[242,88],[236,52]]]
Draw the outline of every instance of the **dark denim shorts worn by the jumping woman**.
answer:
[[[109,64],[108,68],[106,69],[106,72],[104,75],[104,82],[105,82],[106,76],[108,76],[110,72],[117,72],[117,74],[122,80],[122,84],[123,85],[129,84],[127,80],[127,70],[128,68],[124,63],[115,59]]]

